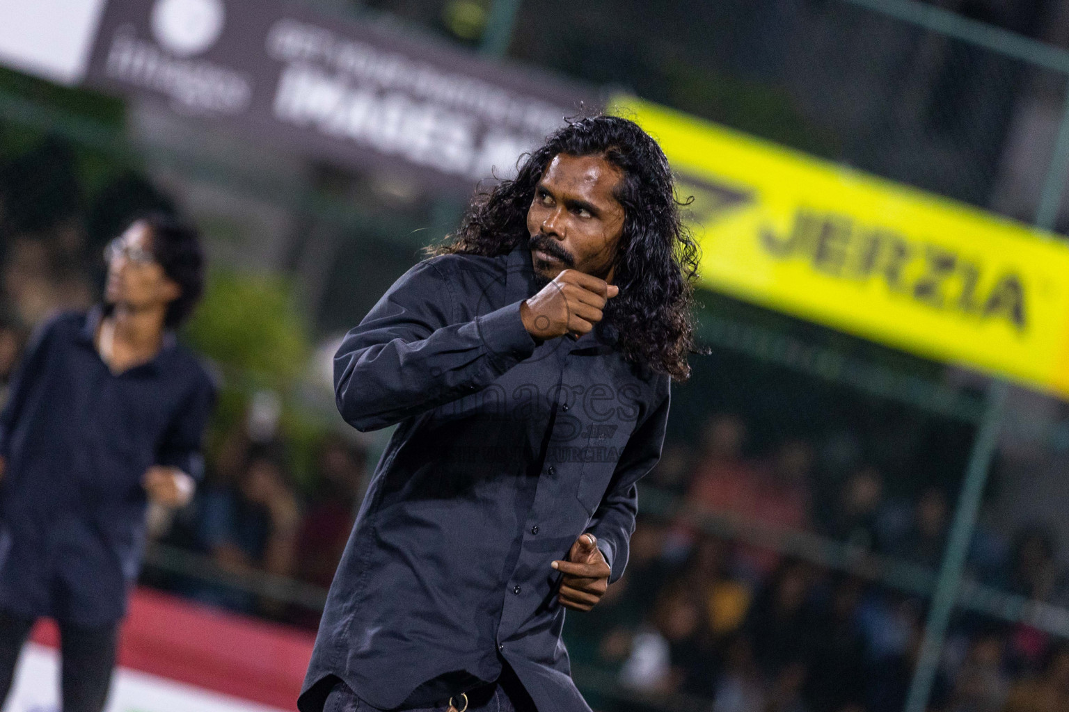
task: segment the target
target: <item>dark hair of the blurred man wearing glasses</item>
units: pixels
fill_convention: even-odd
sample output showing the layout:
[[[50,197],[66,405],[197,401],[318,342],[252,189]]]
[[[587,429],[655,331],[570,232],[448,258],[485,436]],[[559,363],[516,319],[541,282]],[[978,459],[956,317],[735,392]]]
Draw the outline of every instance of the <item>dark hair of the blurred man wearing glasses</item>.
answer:
[[[149,226],[152,254],[182,294],[167,305],[164,326],[176,329],[189,318],[204,294],[204,251],[197,228],[167,212],[144,212],[130,221]]]

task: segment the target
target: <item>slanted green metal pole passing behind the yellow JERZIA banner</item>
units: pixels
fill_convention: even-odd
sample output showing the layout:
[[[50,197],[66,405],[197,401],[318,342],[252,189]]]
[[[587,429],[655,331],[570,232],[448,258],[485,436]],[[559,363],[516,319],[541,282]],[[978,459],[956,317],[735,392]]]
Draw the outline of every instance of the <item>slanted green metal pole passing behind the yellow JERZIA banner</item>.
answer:
[[[1062,124],[1054,142],[1051,163],[1047,170],[1047,180],[1040,194],[1039,206],[1036,208],[1036,225],[1043,230],[1053,230],[1062,210],[1062,196],[1065,193],[1066,178],[1069,176],[1069,85],[1066,88],[1066,100],[1062,110]],[[980,508],[980,499],[988,481],[991,460],[994,458],[998,444],[998,430],[1002,425],[1003,409],[1006,402],[1008,386],[1004,381],[993,381],[988,389],[988,408],[976,432],[973,452],[969,456],[969,466],[965,471],[965,481],[958,497],[958,508],[954,513],[950,537],[947,540],[946,552],[940,566],[935,591],[932,594],[932,604],[925,626],[924,639],[920,643],[920,654],[917,667],[910,683],[910,692],[905,698],[905,712],[925,712],[931,698],[932,685],[939,673],[940,659],[943,654],[943,643],[946,639],[946,629],[950,622],[950,613],[961,587],[961,574],[965,568],[965,556],[969,553],[969,542],[976,526],[976,515]]]

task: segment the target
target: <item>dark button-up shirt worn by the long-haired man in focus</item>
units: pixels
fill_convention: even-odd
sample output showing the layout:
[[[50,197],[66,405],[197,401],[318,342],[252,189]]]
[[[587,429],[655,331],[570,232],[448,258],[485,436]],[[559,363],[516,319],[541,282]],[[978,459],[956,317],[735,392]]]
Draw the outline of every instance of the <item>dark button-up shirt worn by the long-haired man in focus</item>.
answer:
[[[536,344],[520,318],[536,291],[526,242],[434,257],[345,336],[341,414],[400,425],[330,587],[301,710],[322,709],[332,676],[388,709],[493,682],[502,659],[542,712],[589,710],[549,563],[591,532],[609,581],[623,573],[669,379],[626,363],[610,327]]]

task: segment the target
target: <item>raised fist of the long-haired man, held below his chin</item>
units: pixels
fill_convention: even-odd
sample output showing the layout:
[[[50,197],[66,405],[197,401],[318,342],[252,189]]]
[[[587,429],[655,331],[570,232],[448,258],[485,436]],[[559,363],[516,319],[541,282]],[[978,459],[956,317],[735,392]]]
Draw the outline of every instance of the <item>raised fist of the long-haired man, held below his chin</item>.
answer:
[[[546,341],[567,333],[583,335],[602,320],[605,302],[620,287],[574,269],[566,269],[520,305],[524,328]]]

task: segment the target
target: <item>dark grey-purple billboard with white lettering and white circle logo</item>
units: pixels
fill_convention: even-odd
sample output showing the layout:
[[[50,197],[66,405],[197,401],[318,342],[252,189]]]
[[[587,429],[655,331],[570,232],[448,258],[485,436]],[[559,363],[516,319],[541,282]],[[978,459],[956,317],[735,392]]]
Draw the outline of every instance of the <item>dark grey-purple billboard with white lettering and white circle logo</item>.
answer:
[[[598,99],[410,29],[272,0],[109,0],[87,81],[463,193]]]

